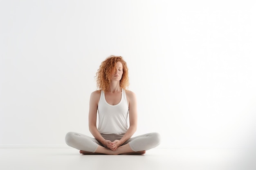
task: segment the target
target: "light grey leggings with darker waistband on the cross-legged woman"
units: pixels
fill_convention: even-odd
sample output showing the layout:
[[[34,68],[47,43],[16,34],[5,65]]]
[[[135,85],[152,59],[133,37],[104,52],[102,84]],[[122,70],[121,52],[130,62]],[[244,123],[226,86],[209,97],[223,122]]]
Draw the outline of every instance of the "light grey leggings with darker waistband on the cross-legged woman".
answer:
[[[114,141],[120,140],[124,135],[103,135],[102,137],[106,140]],[[87,152],[95,152],[98,146],[104,146],[97,139],[83,135],[76,132],[68,132],[65,137],[66,144],[78,150],[84,150]],[[139,135],[137,137],[132,137],[128,139],[123,145],[129,144],[130,148],[134,151],[149,150],[155,148],[160,144],[160,135],[157,132],[147,133],[144,135]]]

